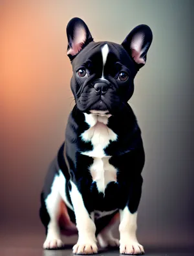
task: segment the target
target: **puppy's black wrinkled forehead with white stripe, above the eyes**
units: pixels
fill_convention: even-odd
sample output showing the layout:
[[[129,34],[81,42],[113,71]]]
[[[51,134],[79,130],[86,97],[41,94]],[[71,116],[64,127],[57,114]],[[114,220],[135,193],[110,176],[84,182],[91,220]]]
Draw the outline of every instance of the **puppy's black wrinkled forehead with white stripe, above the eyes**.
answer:
[[[118,63],[129,69],[131,75],[135,76],[138,71],[124,47],[113,42],[91,42],[78,53],[71,63],[75,72],[87,65],[91,65],[96,72],[98,70],[102,72],[102,69],[111,70]]]

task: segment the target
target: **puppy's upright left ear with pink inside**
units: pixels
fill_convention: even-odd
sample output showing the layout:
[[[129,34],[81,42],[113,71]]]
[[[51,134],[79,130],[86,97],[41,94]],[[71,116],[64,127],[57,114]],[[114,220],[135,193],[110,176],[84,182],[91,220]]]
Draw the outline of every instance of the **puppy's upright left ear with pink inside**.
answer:
[[[91,32],[85,22],[80,18],[72,18],[67,24],[67,56],[70,60],[90,42],[93,41]]]

